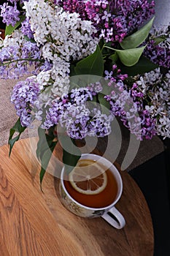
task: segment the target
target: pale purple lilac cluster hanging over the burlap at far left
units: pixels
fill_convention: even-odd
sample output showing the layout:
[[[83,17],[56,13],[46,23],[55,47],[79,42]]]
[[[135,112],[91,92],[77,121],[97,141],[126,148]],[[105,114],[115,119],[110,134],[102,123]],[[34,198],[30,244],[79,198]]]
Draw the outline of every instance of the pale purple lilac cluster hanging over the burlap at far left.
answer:
[[[15,105],[23,127],[29,127],[31,124],[31,110],[38,96],[39,84],[33,78],[26,78],[25,81],[18,82],[12,91],[11,102]]]

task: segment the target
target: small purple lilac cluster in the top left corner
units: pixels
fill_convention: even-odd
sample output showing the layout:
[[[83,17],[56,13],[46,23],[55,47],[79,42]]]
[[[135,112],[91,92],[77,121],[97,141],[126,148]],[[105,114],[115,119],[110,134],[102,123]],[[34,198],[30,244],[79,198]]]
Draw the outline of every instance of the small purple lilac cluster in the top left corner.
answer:
[[[20,12],[17,9],[17,4],[14,7],[9,6],[8,3],[4,3],[1,7],[1,17],[3,18],[3,23],[7,23],[7,26],[15,26],[15,23],[20,20]]]

